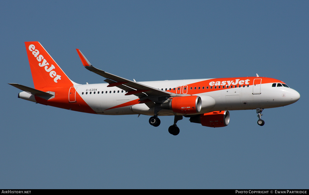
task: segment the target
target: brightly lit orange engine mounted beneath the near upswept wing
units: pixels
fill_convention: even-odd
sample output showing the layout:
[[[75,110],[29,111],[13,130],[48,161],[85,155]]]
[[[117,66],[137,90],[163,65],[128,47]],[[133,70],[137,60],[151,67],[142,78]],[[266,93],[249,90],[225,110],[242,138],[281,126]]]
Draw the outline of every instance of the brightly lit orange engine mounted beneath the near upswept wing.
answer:
[[[173,110],[180,114],[194,114],[201,111],[201,97],[197,95],[174,97],[166,103],[161,104],[161,108]]]

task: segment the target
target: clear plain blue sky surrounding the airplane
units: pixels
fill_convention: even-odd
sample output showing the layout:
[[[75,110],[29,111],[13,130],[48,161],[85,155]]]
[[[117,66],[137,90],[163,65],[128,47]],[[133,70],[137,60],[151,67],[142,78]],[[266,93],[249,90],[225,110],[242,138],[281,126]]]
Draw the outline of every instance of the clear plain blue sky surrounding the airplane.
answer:
[[[308,1],[1,1],[0,189],[308,189]],[[230,111],[209,128],[173,117],[102,116],[18,99],[33,87],[25,41],[76,83],[95,67],[136,81],[260,76],[295,104]]]

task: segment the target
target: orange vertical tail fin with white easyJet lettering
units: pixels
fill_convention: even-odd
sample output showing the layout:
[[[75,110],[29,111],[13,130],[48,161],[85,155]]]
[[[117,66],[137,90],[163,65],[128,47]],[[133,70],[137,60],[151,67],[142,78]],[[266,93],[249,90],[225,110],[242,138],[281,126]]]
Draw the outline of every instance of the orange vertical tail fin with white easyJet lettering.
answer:
[[[39,42],[25,42],[25,45],[34,88],[65,87],[76,84],[66,76]]]

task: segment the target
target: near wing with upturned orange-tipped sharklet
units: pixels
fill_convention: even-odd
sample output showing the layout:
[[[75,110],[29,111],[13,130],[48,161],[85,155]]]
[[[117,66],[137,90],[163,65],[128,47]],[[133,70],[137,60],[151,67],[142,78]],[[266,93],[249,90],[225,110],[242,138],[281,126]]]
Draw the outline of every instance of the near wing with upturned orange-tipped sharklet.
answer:
[[[127,91],[125,95],[136,95],[140,98],[139,101],[148,99],[154,103],[159,103],[167,100],[167,98],[170,97],[188,96],[186,94],[175,94],[168,91],[162,91],[157,88],[134,82],[126,78],[105,72],[103,70],[99,70],[90,64],[90,62],[79,49],[76,49],[76,51],[86,69],[106,78],[104,81],[109,83],[107,87],[118,87],[122,90],[125,90]]]

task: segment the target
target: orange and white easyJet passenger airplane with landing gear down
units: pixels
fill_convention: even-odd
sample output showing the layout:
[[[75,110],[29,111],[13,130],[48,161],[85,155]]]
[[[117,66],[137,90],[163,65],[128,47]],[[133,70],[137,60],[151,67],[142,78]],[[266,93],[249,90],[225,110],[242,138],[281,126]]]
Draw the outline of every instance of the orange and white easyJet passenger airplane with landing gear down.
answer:
[[[229,110],[256,110],[258,125],[265,108],[293,104],[300,94],[281,80],[267,77],[208,78],[136,82],[99,70],[76,49],[83,66],[106,78],[106,83],[74,83],[43,46],[25,42],[34,88],[8,83],[20,90],[18,98],[68,110],[102,115],[138,114],[151,116],[150,125],[160,125],[159,116],[174,116],[168,128],[178,135],[177,121],[206,127],[224,127]]]

